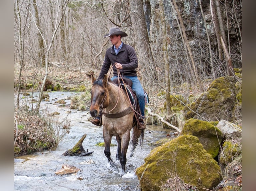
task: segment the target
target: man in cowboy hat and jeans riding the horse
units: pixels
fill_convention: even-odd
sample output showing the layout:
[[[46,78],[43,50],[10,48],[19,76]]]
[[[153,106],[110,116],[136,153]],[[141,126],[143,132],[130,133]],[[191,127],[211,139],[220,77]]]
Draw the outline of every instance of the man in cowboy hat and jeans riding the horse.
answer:
[[[141,115],[145,116],[144,90],[140,84],[136,71],[136,68],[138,68],[138,59],[134,48],[122,42],[122,37],[127,36],[128,35],[121,31],[118,27],[111,28],[109,30],[109,34],[103,36],[103,38],[109,37],[113,46],[108,48],[106,51],[98,80],[103,79],[104,75],[108,73],[110,66],[114,65],[114,76],[111,78],[111,80],[117,78],[117,69],[119,69],[122,76],[129,78],[132,81],[131,88],[136,93]],[[91,120],[91,122],[95,125],[101,126],[99,117]],[[144,124],[143,119],[141,119],[140,123],[138,124],[138,129],[143,130],[145,128],[146,125]]]

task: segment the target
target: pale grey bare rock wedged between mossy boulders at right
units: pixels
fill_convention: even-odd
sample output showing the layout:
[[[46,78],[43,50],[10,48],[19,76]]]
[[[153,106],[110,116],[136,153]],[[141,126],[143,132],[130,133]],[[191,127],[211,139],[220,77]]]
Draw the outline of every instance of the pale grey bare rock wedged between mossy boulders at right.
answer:
[[[242,137],[241,127],[239,127],[234,123],[231,123],[229,121],[222,119],[216,126],[228,139],[235,139],[235,138]]]

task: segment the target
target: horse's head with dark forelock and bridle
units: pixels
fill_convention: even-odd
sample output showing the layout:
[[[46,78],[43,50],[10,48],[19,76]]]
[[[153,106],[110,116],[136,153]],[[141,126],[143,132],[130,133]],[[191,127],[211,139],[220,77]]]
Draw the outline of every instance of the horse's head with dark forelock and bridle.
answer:
[[[91,89],[91,107],[90,113],[92,117],[97,117],[103,108],[106,108],[109,104],[109,92],[107,87],[108,77],[104,76],[103,80],[96,80],[91,75],[93,86]]]

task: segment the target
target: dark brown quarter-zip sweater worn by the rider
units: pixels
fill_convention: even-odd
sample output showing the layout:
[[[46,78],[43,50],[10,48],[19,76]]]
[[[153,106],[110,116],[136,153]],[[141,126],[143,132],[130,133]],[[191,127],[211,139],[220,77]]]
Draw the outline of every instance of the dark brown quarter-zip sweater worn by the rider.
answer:
[[[109,68],[115,62],[120,63],[123,69],[120,70],[123,76],[137,76],[136,68],[138,68],[138,58],[134,48],[130,45],[124,44],[120,51],[116,54],[114,46],[108,48],[105,54],[105,59],[100,71],[99,79],[103,79],[104,75],[108,73]],[[117,68],[113,67],[113,74],[117,76]]]

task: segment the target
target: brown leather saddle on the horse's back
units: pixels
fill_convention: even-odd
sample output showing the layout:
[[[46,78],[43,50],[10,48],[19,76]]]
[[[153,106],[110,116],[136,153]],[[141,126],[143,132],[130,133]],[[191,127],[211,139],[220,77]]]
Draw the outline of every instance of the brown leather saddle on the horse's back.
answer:
[[[118,78],[115,78],[112,81],[117,86],[121,85],[122,89],[125,90],[125,88],[126,88],[126,90],[128,92],[129,99],[130,99],[131,104],[133,106],[133,109],[136,111],[136,112],[134,112],[133,126],[137,125],[137,123],[139,123],[140,121],[143,121],[143,117],[141,116],[140,106],[139,106],[139,102],[137,100],[136,93],[131,88],[132,87],[132,81],[129,78],[126,78],[126,77],[122,77],[122,78],[119,77],[119,80],[118,80]]]

